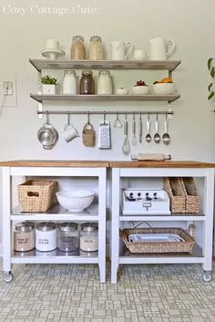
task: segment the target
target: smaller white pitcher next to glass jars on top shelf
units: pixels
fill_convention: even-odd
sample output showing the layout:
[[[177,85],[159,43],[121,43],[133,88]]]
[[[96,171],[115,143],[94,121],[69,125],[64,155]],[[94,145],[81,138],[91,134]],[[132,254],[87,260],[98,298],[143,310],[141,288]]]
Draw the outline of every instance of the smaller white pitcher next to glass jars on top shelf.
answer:
[[[128,51],[126,51],[128,47]],[[125,44],[124,41],[116,40],[110,44],[110,59],[113,60],[126,60],[133,52],[133,45],[130,43]]]

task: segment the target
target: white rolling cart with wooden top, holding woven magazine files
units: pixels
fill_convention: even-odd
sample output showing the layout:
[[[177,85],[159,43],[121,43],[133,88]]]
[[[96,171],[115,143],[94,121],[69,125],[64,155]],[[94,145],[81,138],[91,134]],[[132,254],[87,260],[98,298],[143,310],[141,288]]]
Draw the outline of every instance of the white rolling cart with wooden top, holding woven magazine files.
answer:
[[[111,282],[117,283],[118,265],[122,264],[202,264],[204,281],[211,279],[212,267],[212,232],[215,164],[197,161],[115,161],[112,168],[112,226],[111,226]],[[120,207],[123,180],[135,178],[194,177],[204,182],[203,209],[198,215],[179,213],[178,215],[123,215]],[[127,183],[128,184],[128,183]],[[126,222],[148,223],[176,222],[202,223],[202,248],[196,244],[191,254],[132,254],[128,249],[121,249],[119,228]]]

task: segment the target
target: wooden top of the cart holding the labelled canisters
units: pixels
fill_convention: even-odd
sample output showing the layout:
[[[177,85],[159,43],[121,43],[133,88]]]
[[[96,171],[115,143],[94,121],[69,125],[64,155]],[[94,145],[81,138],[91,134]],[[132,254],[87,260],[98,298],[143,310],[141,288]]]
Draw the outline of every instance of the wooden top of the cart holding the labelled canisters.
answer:
[[[15,160],[0,162],[0,167],[71,167],[108,168],[107,161]]]

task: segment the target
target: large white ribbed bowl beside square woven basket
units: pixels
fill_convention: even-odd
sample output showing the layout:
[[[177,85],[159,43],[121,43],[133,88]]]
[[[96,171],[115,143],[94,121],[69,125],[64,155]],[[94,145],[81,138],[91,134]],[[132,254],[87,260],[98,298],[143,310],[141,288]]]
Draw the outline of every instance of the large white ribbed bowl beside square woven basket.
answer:
[[[81,213],[95,197],[95,192],[88,190],[67,190],[56,192],[58,203],[72,213]]]

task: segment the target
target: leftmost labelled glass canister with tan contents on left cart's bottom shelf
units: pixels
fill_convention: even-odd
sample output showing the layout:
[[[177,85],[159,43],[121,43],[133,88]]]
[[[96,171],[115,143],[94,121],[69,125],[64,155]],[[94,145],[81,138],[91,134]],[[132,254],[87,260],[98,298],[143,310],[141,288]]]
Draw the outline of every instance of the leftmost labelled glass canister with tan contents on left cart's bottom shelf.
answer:
[[[14,249],[16,252],[27,252],[36,246],[35,229],[32,223],[17,223],[14,231]]]

